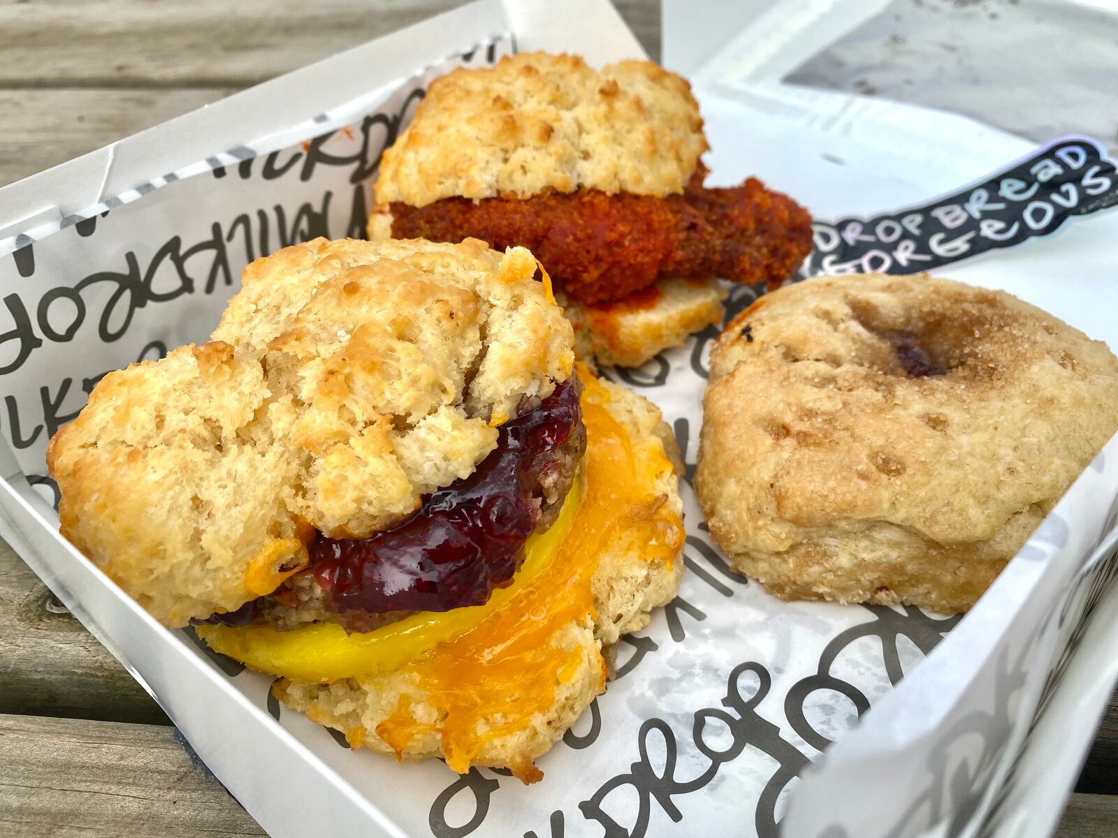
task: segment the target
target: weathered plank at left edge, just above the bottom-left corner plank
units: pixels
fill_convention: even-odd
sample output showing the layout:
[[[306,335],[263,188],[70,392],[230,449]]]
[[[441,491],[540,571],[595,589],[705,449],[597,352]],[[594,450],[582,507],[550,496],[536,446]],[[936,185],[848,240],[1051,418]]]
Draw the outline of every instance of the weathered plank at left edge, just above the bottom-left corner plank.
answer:
[[[169,724],[151,696],[3,541],[0,648],[0,713]]]

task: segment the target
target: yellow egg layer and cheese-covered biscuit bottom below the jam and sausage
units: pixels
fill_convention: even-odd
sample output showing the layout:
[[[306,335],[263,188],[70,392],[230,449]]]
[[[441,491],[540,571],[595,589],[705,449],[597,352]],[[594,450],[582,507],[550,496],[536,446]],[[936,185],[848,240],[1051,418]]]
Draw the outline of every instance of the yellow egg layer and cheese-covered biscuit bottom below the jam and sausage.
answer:
[[[555,524],[484,606],[376,631],[333,623],[201,626],[217,651],[281,676],[287,706],[398,760],[542,777],[548,751],[605,689],[603,648],[648,623],[683,571],[674,442],[646,400],[587,371],[587,450]]]

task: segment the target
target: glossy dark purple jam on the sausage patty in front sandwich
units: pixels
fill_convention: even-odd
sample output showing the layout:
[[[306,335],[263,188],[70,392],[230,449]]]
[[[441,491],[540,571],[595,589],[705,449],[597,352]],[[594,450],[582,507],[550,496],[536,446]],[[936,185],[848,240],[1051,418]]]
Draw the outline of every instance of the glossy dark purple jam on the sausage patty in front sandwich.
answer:
[[[404,523],[368,539],[310,545],[315,580],[340,612],[448,611],[480,606],[512,579],[540,516],[541,473],[581,421],[574,380],[498,429],[465,479],[424,498]]]

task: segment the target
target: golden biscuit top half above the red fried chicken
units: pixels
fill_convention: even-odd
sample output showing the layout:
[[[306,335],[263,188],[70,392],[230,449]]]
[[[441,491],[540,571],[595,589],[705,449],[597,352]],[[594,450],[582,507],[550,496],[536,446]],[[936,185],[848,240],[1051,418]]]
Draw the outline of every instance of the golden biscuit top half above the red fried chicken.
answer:
[[[424,207],[580,188],[663,197],[683,191],[707,147],[699,104],[674,73],[522,53],[432,82],[380,161],[376,198]]]

